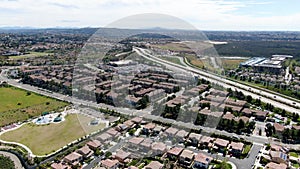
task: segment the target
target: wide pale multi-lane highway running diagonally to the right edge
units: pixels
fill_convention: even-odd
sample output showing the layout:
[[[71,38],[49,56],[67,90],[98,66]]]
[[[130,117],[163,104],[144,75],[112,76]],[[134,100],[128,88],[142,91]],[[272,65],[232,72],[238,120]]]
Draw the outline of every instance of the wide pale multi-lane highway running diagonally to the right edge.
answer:
[[[289,111],[289,112],[295,112],[300,115],[300,109],[299,109],[300,103],[299,102],[295,102],[293,100],[289,100],[289,99],[281,97],[281,96],[270,94],[270,93],[267,93],[262,90],[254,89],[247,85],[233,82],[233,81],[230,81],[223,77],[220,77],[220,76],[217,76],[214,74],[210,74],[208,72],[204,72],[199,69],[195,69],[195,68],[191,67],[190,65],[187,65],[185,62],[182,62],[182,64],[185,65],[185,66],[182,66],[179,64],[175,64],[175,63],[160,59],[160,58],[155,57],[152,54],[150,54],[150,51],[148,51],[147,49],[134,47],[133,50],[140,56],[142,56],[146,59],[149,59],[153,62],[160,63],[162,65],[165,65],[166,67],[173,67],[173,68],[181,69],[182,71],[193,72],[193,73],[201,76],[202,78],[209,80],[212,83],[224,86],[225,88],[231,88],[232,90],[241,91],[245,95],[252,96],[252,98],[254,98],[254,99],[260,99],[262,102],[271,103],[275,107],[285,109],[286,111]],[[249,90],[249,88],[250,88],[250,90]],[[283,103],[286,103],[286,104],[283,104]],[[293,104],[293,103],[295,103],[295,104]],[[292,107],[291,105],[296,106],[298,108]]]

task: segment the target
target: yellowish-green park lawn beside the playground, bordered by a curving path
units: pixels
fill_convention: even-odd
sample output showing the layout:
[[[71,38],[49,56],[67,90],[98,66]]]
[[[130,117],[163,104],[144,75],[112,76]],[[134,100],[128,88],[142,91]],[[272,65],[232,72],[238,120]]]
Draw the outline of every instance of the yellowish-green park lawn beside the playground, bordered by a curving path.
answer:
[[[5,141],[22,143],[29,147],[35,155],[46,155],[88,133],[105,127],[105,124],[88,125],[91,120],[92,118],[84,115],[70,114],[61,123],[49,125],[29,123],[4,133],[0,138]]]

